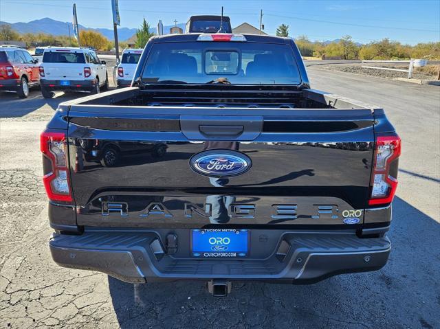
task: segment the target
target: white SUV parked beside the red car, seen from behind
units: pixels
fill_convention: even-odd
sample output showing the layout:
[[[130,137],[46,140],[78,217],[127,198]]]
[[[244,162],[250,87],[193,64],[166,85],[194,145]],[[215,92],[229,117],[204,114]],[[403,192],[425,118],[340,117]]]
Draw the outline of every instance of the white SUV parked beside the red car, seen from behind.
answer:
[[[109,87],[105,62],[87,48],[46,48],[40,77],[44,98],[54,97],[55,90],[99,93]]]

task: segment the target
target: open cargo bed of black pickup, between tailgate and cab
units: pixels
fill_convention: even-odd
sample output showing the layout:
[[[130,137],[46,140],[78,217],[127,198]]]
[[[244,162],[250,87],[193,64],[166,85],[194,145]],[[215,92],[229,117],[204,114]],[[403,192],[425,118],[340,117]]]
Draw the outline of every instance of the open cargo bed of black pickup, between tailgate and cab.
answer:
[[[90,95],[63,103],[74,105],[105,106],[185,106],[185,107],[245,107],[268,109],[380,109],[340,95],[315,89],[303,90],[249,90],[249,89],[201,89],[200,87],[175,86],[176,89],[139,89],[129,87]],[[177,88],[178,87],[178,88]],[[99,110],[98,110],[99,111]]]

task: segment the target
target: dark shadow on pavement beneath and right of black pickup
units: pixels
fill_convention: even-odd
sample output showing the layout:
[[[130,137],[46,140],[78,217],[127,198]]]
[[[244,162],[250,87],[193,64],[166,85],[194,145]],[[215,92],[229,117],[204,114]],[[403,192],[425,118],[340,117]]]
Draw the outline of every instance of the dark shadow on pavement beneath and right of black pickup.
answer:
[[[234,283],[211,297],[201,282],[133,285],[109,277],[121,328],[439,328],[440,225],[400,198],[384,269],[308,286]]]

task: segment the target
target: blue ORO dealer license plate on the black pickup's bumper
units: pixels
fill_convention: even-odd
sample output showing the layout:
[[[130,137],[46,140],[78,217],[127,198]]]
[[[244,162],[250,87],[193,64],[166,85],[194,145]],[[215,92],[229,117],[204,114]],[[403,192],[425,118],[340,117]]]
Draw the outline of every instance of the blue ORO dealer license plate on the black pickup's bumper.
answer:
[[[247,229],[192,229],[191,253],[199,258],[234,258],[248,256]]]

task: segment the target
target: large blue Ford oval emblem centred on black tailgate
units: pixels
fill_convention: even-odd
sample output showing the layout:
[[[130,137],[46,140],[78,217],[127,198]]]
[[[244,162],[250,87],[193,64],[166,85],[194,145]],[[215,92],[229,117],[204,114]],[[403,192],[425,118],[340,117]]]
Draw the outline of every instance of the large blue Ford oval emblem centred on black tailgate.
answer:
[[[190,167],[208,177],[231,177],[250,170],[252,161],[247,155],[232,150],[208,150],[193,155]]]

